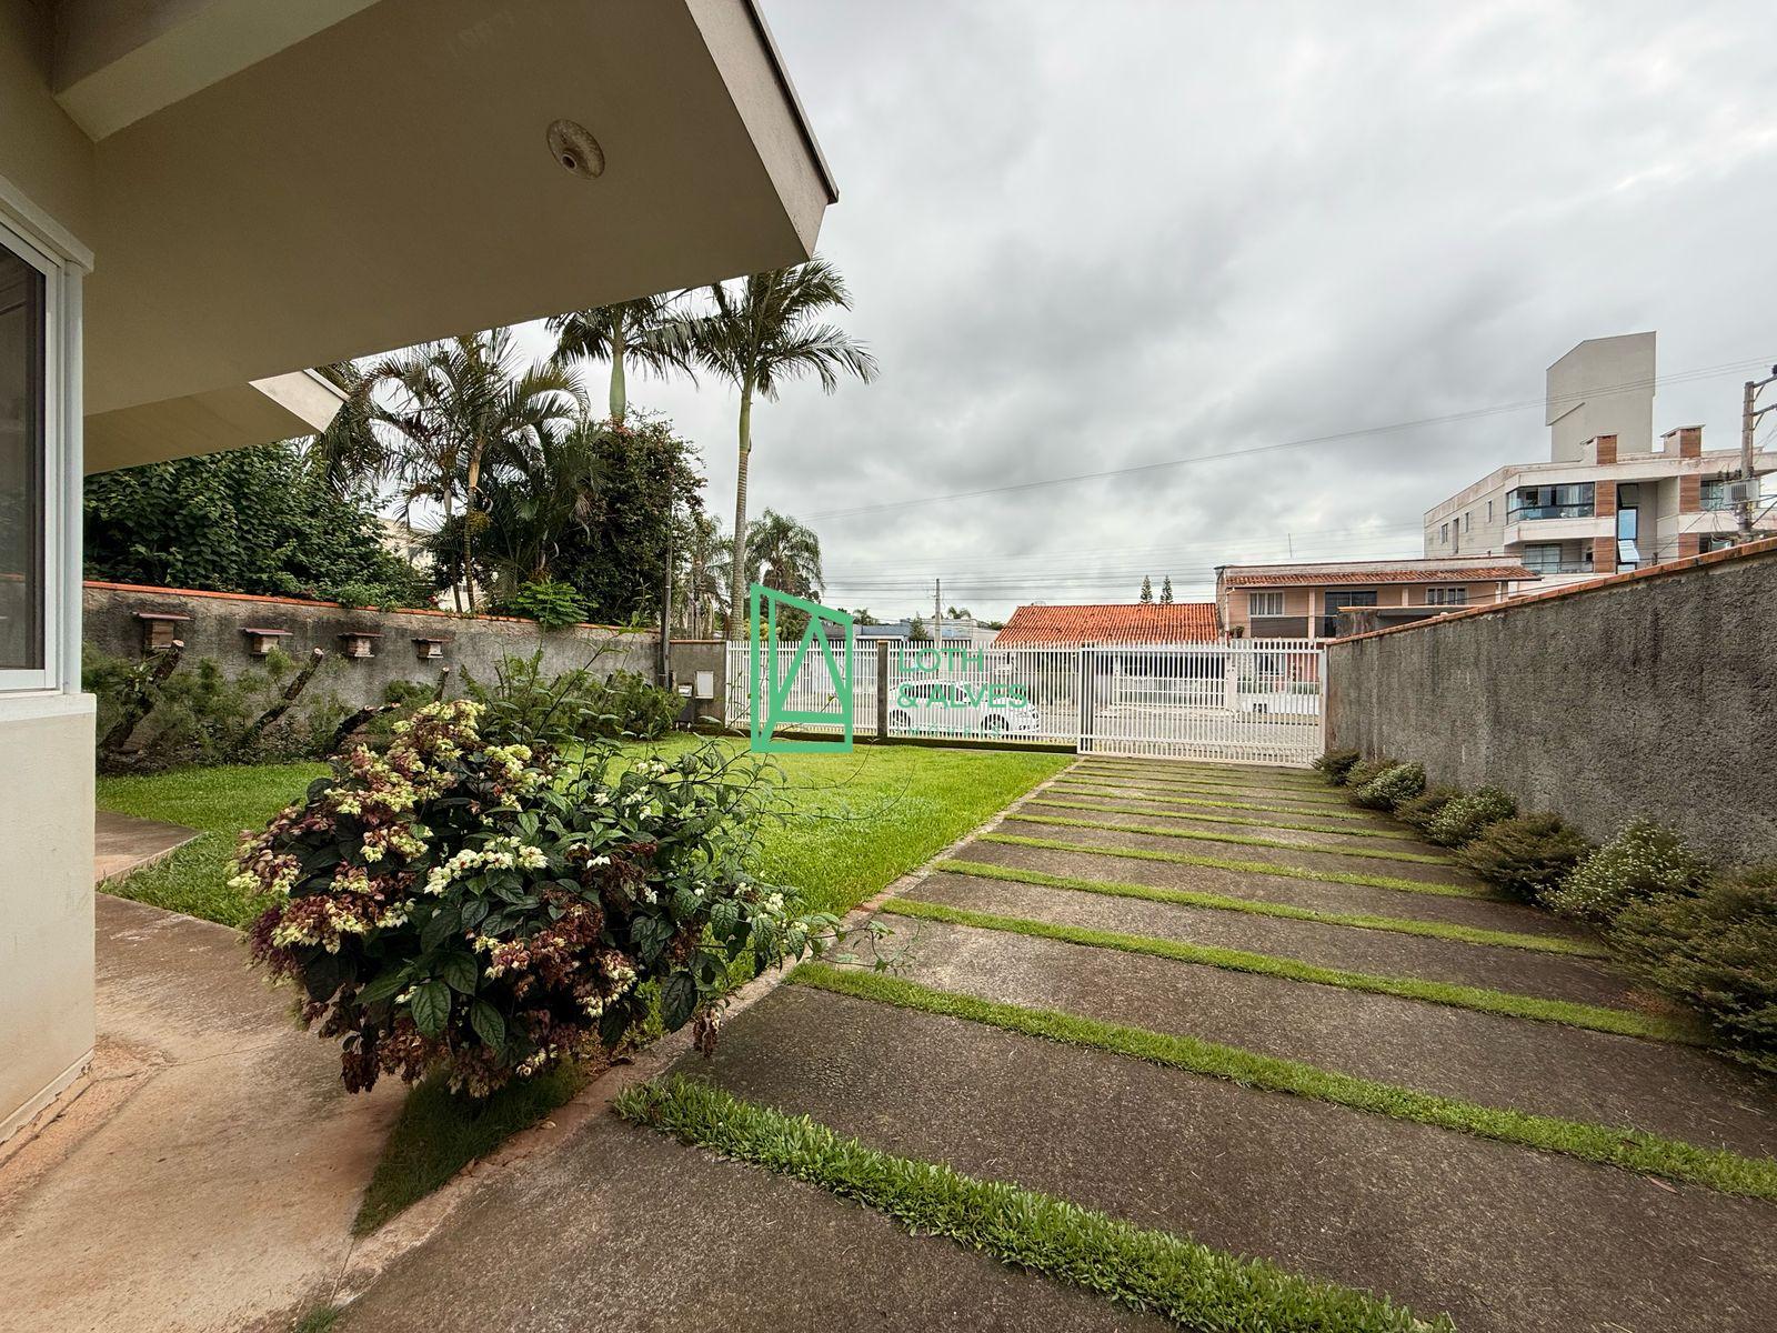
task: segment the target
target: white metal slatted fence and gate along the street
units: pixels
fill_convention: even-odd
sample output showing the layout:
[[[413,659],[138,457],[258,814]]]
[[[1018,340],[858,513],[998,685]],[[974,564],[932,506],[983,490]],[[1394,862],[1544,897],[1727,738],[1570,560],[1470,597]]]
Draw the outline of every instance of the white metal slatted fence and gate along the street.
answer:
[[[839,734],[842,700],[826,658],[810,649],[791,674],[794,656],[796,643],[777,643],[761,663],[762,681],[778,682],[777,713],[801,714],[798,730]],[[1322,748],[1322,649],[1308,640],[942,651],[897,643],[887,661],[867,643],[849,659],[833,645],[833,659],[841,681],[849,661],[855,736],[874,736],[885,722],[890,736],[1267,764],[1306,764]],[[745,730],[750,716],[750,649],[730,643],[725,718]]]

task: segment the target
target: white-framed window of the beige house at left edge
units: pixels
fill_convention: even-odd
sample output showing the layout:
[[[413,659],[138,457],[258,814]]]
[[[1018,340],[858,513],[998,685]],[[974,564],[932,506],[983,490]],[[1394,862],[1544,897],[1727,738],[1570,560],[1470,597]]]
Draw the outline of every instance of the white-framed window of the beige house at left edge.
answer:
[[[0,226],[0,688],[52,684],[55,267]]]

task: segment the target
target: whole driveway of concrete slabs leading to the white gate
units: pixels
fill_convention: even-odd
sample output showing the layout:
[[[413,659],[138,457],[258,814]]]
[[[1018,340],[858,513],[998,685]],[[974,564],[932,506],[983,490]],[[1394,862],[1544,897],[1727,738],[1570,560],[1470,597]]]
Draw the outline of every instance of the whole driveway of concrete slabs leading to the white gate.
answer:
[[[1091,796],[1093,786],[1114,787]],[[1077,791],[1063,794],[1064,787]],[[1112,805],[1192,807],[1276,825],[1212,825],[1292,848],[1143,834]],[[1098,802],[1073,828],[1018,816]],[[1297,810],[1317,810],[1303,816]],[[1185,809],[1185,807],[1180,807]],[[910,903],[1143,935],[1358,972],[1452,981],[1628,1011],[1656,1010],[1596,958],[1118,896],[1118,883],[1239,903],[1383,914],[1514,931],[1583,933],[1487,896],[1438,862],[1336,860],[1347,807],[1311,775],[1086,759],[952,860],[1068,876],[1086,892],[936,867]],[[1398,825],[1349,821],[1365,846],[1438,857]],[[1159,819],[1155,819],[1159,825]],[[1040,839],[1072,850],[1000,839]],[[1187,851],[1253,869],[1127,853]],[[1265,851],[1267,855],[1256,855]],[[1120,855],[1121,853],[1121,855]],[[1310,878],[1292,878],[1294,869]],[[1375,887],[1327,869],[1400,878]],[[1418,871],[1416,874],[1413,871]],[[1427,876],[1427,871],[1434,871]],[[1683,1045],[1420,999],[1224,970],[1009,930],[883,915],[899,976],[1000,1002],[1201,1036],[1491,1107],[1638,1127],[1777,1155],[1772,1081]],[[1763,1333],[1777,1308],[1777,1205],[1573,1157],[1011,1034],[958,1018],[784,986],[739,1015],[713,1061],[684,1061],[737,1095],[864,1141],[1189,1232],[1288,1269],[1450,1312],[1464,1333]],[[672,1237],[666,1241],[665,1237]],[[697,1260],[681,1253],[693,1249]],[[489,1269],[478,1257],[508,1255]],[[478,1196],[354,1306],[350,1329],[1093,1328],[1134,1324],[942,1241],[912,1239],[762,1171],[665,1145],[610,1116]]]

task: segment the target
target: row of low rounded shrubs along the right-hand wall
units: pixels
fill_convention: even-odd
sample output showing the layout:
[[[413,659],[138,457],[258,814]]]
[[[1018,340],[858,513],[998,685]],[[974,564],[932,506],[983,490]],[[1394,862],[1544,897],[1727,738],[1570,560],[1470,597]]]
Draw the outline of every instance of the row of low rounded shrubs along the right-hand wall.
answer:
[[[1596,926],[1631,972],[1697,1011],[1724,1054],[1777,1072],[1777,866],[1713,871],[1651,819],[1592,848],[1498,787],[1427,787],[1418,764],[1352,750],[1317,768],[1354,803],[1455,848],[1487,883]]]

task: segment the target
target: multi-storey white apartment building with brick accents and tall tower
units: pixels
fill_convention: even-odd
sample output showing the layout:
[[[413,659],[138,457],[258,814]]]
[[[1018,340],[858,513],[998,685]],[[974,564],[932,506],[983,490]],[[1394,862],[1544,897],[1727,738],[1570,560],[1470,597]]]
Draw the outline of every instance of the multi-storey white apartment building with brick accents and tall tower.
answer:
[[[1702,427],[1654,437],[1654,334],[1580,343],[1548,368],[1546,402],[1550,462],[1500,467],[1427,510],[1427,556],[1505,556],[1562,585],[1733,544],[1740,450],[1704,451]],[[1777,453],[1754,471],[1777,471]],[[1777,514],[1756,528],[1772,535]]]

